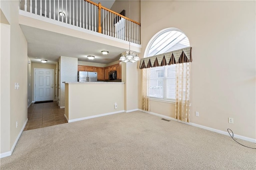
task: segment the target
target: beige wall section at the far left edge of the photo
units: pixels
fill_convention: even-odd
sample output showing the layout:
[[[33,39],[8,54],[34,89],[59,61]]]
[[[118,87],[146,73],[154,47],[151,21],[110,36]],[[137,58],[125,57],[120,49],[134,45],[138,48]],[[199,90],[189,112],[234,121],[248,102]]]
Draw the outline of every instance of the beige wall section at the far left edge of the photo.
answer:
[[[1,7],[2,2],[0,2]],[[2,10],[1,10],[2,12]],[[10,24],[0,25],[0,153],[10,151]]]

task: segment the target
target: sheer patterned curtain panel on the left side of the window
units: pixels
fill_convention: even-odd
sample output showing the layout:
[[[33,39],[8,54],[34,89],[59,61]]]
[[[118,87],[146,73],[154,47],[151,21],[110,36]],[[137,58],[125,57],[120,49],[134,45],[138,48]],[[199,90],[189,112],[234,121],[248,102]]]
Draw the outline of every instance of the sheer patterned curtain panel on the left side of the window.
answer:
[[[150,68],[142,69],[142,110],[150,111],[148,97],[148,80],[150,78]]]

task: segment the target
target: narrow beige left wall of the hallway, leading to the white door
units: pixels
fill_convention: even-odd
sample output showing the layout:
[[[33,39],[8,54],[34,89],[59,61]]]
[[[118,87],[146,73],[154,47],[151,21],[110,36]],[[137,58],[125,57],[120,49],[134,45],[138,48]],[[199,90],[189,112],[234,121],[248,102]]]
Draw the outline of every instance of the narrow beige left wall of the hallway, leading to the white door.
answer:
[[[30,64],[29,64],[30,62]],[[32,62],[28,58],[28,106],[32,103],[34,97],[32,93],[32,87],[34,87],[34,82],[32,82]],[[34,76],[34,75],[33,75]],[[34,92],[34,91],[33,91]]]

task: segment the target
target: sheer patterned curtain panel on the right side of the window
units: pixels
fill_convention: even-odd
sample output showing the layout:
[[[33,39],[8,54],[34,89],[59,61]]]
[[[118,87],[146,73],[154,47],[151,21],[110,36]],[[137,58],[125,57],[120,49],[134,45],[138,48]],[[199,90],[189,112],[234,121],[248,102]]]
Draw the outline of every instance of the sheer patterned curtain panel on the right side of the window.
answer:
[[[175,119],[189,122],[190,63],[176,64]]]

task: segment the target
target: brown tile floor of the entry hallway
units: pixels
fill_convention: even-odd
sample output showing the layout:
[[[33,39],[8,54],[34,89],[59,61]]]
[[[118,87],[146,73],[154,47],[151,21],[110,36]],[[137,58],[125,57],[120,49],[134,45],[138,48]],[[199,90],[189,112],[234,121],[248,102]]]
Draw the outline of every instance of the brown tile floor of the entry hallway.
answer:
[[[68,123],[64,113],[64,109],[60,109],[56,102],[32,103],[28,107],[28,122],[24,131]]]

